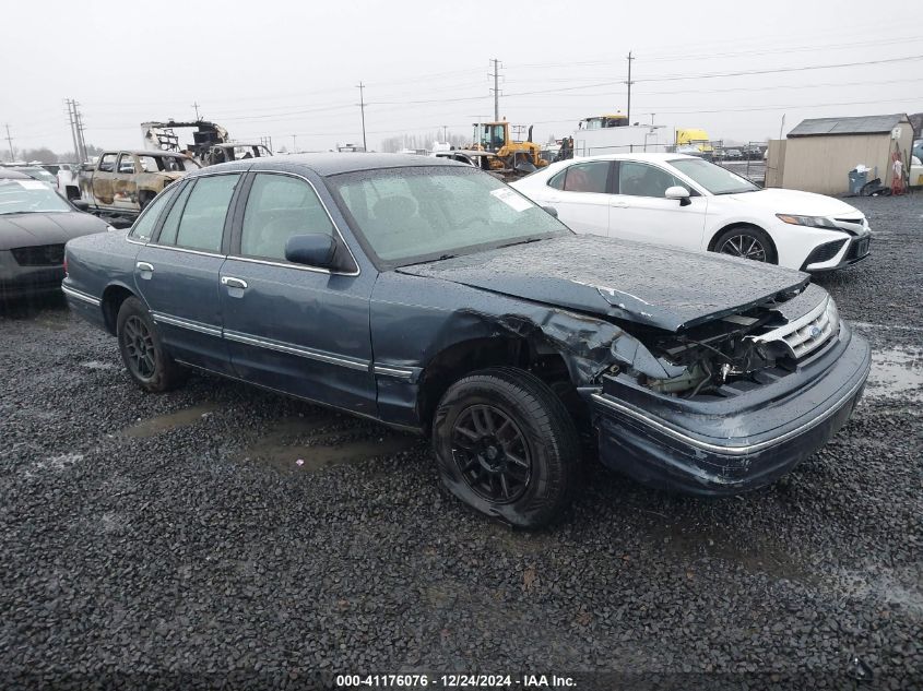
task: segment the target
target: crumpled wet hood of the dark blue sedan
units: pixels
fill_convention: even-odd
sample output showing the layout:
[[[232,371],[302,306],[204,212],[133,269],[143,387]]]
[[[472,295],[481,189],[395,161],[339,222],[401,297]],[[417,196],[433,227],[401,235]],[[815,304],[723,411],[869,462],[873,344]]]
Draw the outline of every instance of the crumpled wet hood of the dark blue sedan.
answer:
[[[592,235],[398,271],[667,331],[743,311],[809,279],[771,264]]]

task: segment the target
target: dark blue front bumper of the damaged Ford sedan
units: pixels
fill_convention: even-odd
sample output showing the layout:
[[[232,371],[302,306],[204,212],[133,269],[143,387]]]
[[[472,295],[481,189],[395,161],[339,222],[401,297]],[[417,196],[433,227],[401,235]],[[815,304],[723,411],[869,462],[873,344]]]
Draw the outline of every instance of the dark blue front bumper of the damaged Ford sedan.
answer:
[[[849,420],[868,377],[868,343],[839,338],[796,371],[714,402],[654,394],[607,378],[591,396],[602,462],[661,489],[735,495],[769,485]]]

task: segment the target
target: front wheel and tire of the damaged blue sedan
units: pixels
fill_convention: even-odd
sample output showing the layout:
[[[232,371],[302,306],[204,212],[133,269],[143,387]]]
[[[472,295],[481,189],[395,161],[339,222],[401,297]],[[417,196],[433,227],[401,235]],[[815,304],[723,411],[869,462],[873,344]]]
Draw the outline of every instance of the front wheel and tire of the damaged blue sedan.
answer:
[[[573,420],[524,370],[485,369],[452,384],[436,408],[433,446],[449,491],[514,526],[551,523],[578,489]]]

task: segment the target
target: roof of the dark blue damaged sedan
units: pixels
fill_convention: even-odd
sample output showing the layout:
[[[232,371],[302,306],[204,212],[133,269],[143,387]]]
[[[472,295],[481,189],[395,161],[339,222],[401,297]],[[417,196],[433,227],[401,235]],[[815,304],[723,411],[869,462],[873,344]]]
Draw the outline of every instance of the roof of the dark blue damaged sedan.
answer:
[[[419,156],[417,154],[368,154],[331,152],[322,154],[289,154],[287,156],[267,156],[234,163],[223,163],[217,166],[203,168],[196,175],[209,175],[217,170],[240,170],[252,166],[259,170],[311,171],[321,177],[340,175],[341,172],[356,172],[358,170],[377,170],[382,168],[412,168],[422,166],[454,166],[470,169],[471,166],[436,156]]]

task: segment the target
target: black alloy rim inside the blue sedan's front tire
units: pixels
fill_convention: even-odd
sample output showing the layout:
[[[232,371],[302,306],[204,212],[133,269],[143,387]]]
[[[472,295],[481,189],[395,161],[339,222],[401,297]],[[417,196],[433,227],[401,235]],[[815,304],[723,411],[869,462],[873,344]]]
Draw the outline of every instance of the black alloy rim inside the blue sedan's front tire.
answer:
[[[493,405],[473,405],[455,418],[452,457],[468,486],[490,502],[516,501],[532,475],[525,437]]]

